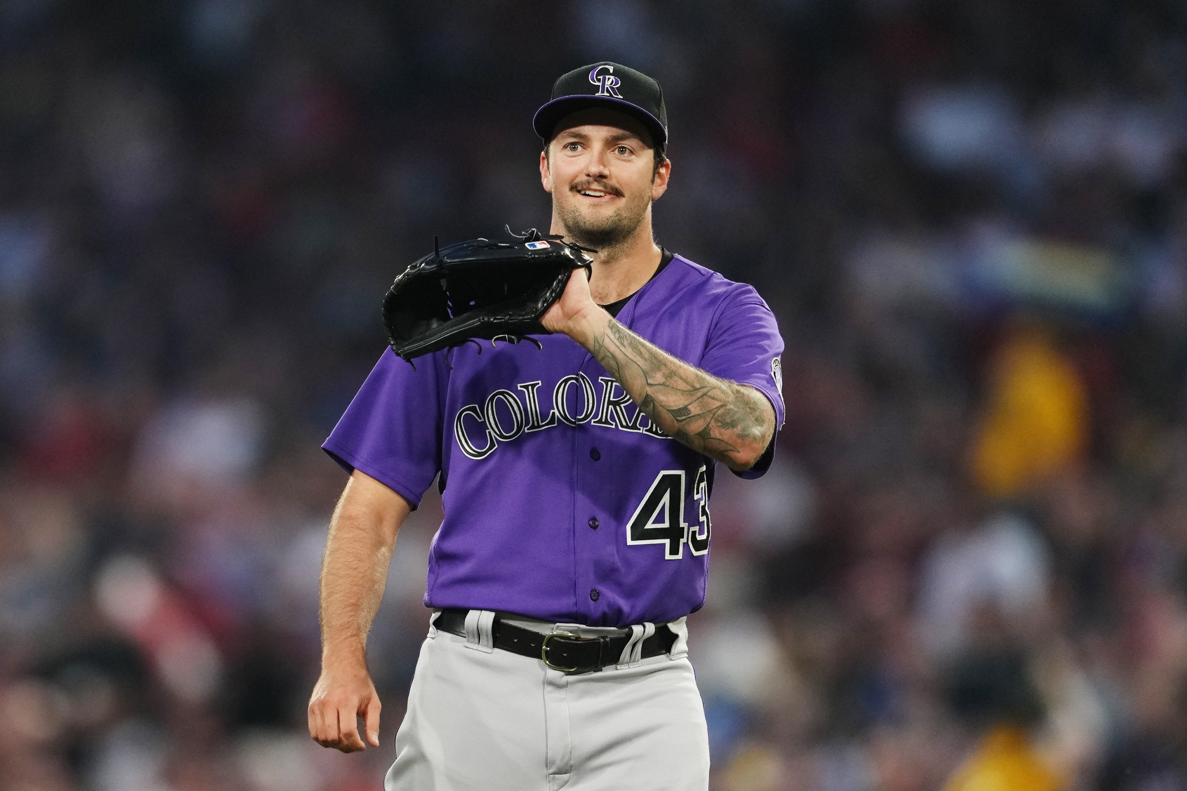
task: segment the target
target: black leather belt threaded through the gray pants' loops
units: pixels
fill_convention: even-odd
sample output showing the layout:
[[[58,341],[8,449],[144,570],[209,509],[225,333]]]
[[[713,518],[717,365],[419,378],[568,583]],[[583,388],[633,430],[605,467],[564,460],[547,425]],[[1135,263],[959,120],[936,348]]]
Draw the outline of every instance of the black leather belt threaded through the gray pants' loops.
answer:
[[[446,608],[438,613],[433,624],[443,632],[465,637],[465,615],[469,610]],[[622,650],[630,640],[629,634],[616,637],[580,637],[571,632],[541,634],[500,620],[495,615],[491,636],[496,649],[520,656],[544,659],[553,670],[565,672],[589,672],[607,665],[618,664]],[[666,625],[656,626],[655,633],[643,640],[641,658],[659,656],[672,650],[675,632]]]

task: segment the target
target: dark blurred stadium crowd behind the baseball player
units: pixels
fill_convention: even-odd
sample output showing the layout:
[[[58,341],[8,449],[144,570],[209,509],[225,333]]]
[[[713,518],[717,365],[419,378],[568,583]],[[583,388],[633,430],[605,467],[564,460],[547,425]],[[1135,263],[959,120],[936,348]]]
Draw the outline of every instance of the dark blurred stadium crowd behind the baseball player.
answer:
[[[0,787],[379,787],[440,506],[383,746],[323,749],[318,446],[434,234],[547,223],[598,59],[787,342],[690,618],[715,791],[1187,789],[1179,0],[0,2]]]

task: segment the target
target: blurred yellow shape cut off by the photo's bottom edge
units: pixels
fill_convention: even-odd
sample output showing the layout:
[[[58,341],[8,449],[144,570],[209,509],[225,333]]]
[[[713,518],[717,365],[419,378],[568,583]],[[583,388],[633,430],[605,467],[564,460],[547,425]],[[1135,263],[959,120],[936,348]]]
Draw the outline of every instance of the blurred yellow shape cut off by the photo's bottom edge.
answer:
[[[991,731],[944,791],[1060,791],[1064,783],[1035,753],[1022,728]]]

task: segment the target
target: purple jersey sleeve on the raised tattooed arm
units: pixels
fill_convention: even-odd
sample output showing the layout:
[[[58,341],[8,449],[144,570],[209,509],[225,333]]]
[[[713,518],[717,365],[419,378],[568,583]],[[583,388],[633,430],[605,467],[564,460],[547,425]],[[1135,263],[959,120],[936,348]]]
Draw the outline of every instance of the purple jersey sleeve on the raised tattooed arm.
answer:
[[[761,477],[775,455],[775,436],[785,414],[782,353],[775,314],[751,286],[737,285],[717,311],[700,368],[757,389],[775,410],[775,434],[762,457],[749,470],[732,471],[742,478]]]

